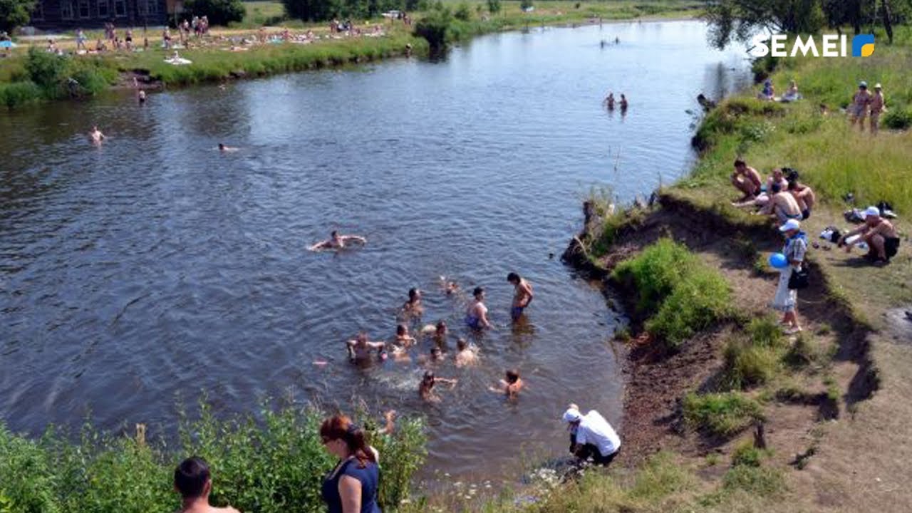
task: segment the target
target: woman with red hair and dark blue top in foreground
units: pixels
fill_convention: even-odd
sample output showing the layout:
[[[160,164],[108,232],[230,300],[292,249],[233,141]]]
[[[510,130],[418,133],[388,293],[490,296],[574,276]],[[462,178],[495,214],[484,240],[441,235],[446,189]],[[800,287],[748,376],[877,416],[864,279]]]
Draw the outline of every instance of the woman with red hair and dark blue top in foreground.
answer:
[[[329,513],[381,513],[377,505],[377,453],[364,430],[345,415],[333,415],[320,425],[326,451],[339,458],[323,480],[323,500]]]

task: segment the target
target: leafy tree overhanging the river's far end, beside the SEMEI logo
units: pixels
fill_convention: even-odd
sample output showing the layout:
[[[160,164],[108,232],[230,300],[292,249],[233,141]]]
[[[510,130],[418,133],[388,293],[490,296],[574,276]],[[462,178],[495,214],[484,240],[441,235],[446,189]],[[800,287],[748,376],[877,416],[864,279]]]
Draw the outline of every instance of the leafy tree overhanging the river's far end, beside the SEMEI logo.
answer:
[[[706,0],[710,43],[747,42],[757,30],[802,34],[824,26],[821,0]]]

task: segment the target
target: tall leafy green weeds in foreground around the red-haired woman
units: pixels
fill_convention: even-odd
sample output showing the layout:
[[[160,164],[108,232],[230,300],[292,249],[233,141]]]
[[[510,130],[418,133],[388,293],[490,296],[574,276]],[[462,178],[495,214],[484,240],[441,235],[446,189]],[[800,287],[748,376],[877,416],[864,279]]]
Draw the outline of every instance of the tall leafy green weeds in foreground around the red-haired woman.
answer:
[[[320,484],[335,461],[320,442],[321,418],[314,409],[289,406],[265,408],[259,421],[222,420],[203,405],[200,420],[181,422],[175,445],[141,434],[101,434],[88,425],[77,442],[53,428],[33,440],[0,424],[0,511],[176,511],[173,469],[189,455],[204,457],[212,467],[213,505],[251,512],[322,511]],[[383,465],[384,510],[409,497],[411,476],[425,455],[421,422],[400,421],[397,427],[392,437],[375,435],[370,441]]]

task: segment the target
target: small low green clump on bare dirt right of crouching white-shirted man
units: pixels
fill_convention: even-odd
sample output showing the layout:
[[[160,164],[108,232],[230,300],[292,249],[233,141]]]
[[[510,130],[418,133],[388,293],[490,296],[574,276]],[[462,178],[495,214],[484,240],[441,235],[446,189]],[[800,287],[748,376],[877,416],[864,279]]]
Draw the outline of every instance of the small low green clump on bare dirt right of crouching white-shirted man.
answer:
[[[736,434],[761,418],[760,404],[741,393],[688,393],[684,396],[685,422],[710,434]]]

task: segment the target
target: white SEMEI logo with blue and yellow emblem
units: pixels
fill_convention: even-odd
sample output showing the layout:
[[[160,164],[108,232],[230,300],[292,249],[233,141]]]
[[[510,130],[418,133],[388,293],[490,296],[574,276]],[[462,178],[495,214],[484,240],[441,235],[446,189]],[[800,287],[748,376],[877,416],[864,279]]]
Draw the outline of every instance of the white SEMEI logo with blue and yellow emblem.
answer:
[[[818,51],[817,42],[814,36],[808,36],[802,39],[801,36],[795,36],[792,45],[792,51],[787,51],[785,47],[788,36],[785,34],[757,34],[751,37],[750,53],[753,57],[795,57],[799,54],[806,57],[808,54],[814,57],[848,57],[848,37],[836,34],[824,34],[821,37],[822,44]],[[874,53],[874,34],[859,34],[852,37],[852,57],[868,57]]]

